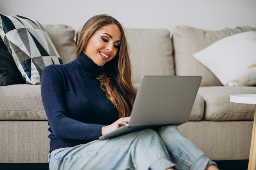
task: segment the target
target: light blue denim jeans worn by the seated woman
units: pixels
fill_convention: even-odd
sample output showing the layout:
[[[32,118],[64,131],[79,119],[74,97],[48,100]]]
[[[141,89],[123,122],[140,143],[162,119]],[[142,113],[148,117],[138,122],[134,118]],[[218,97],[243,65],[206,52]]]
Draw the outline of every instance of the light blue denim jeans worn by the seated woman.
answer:
[[[49,155],[50,170],[204,170],[212,164],[174,126],[60,148]]]

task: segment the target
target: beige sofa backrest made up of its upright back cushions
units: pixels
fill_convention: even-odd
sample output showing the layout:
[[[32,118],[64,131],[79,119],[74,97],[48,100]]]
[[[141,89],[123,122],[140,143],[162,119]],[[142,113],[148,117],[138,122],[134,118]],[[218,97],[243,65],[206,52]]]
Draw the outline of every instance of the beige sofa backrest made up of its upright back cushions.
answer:
[[[66,25],[43,25],[63,63],[76,58],[75,30]],[[79,36],[78,29],[76,37]],[[211,71],[193,58],[196,53],[227,35],[224,31],[176,26],[167,29],[125,29],[132,65],[132,82],[142,75],[201,75],[201,86],[222,86]],[[174,56],[173,56],[174,55]]]

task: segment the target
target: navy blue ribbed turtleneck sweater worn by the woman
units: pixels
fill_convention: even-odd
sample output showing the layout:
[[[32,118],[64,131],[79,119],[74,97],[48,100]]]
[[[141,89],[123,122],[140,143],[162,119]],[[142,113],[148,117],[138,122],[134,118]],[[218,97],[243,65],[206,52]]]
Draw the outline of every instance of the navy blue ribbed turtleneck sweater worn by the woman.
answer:
[[[99,139],[102,126],[117,120],[117,109],[96,79],[101,69],[83,53],[68,64],[44,69],[41,94],[50,126],[50,152]]]

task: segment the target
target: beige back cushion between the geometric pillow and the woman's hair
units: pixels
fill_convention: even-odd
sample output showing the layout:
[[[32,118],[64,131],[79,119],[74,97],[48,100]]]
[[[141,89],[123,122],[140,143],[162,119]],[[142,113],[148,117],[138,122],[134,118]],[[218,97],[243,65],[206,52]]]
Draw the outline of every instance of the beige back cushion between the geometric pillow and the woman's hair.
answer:
[[[76,58],[75,30],[61,24],[46,24],[43,27],[52,39],[63,64],[73,61]]]

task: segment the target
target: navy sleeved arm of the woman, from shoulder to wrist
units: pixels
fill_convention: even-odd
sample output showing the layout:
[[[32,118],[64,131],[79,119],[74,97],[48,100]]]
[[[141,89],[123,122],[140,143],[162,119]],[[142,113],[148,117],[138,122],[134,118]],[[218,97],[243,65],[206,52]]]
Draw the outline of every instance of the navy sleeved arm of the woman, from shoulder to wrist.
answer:
[[[44,69],[41,78],[41,95],[50,128],[56,137],[91,140],[101,136],[105,125],[86,124],[68,117],[64,99],[64,84],[68,83],[59,70],[51,65]]]

